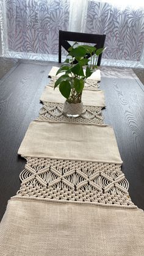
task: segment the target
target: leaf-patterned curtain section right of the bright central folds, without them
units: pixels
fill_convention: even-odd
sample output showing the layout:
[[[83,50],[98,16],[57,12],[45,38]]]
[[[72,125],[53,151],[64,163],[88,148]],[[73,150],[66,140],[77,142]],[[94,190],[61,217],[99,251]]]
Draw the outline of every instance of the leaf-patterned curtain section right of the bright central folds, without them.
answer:
[[[106,34],[103,58],[139,61],[144,43],[144,11],[89,1],[85,32]]]

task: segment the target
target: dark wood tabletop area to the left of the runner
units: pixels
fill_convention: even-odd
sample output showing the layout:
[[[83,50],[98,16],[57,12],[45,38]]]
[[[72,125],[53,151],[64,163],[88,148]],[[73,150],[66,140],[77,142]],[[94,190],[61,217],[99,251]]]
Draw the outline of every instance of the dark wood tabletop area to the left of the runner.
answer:
[[[46,65],[20,64],[0,84],[0,219],[7,200],[20,188],[25,160],[17,155],[29,123],[38,117],[40,95],[48,84]]]

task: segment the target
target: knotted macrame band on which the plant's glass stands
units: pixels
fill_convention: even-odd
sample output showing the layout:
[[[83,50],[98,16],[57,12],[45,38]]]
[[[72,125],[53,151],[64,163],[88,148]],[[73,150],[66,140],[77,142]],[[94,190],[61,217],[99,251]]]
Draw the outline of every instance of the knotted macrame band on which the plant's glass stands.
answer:
[[[81,116],[67,117],[63,114],[62,103],[43,102],[43,107],[40,109],[38,120],[48,120],[52,122],[67,122],[67,123],[93,123],[103,125],[104,118],[101,107],[84,106],[84,111]]]

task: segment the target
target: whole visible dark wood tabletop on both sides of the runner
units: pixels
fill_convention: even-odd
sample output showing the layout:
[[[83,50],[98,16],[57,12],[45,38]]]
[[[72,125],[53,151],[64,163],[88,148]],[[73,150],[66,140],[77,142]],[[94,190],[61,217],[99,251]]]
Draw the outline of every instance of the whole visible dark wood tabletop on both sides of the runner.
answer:
[[[26,161],[17,155],[18,148],[29,123],[38,117],[51,66],[19,64],[0,81],[0,219],[20,188]],[[112,70],[110,75],[109,69],[102,70],[105,121],[115,130],[131,199],[144,210],[144,87],[132,71],[124,75]]]

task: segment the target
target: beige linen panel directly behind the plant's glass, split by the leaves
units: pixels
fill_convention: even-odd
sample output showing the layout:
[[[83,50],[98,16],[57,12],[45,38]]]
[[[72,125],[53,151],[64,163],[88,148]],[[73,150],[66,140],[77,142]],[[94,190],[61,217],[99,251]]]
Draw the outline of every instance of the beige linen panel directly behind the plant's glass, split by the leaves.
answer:
[[[65,98],[59,91],[59,88],[54,90],[51,86],[45,86],[45,89],[40,98],[41,101],[64,103]],[[82,92],[82,102],[85,106],[104,107],[104,92],[102,90],[84,90]]]

